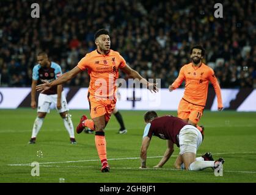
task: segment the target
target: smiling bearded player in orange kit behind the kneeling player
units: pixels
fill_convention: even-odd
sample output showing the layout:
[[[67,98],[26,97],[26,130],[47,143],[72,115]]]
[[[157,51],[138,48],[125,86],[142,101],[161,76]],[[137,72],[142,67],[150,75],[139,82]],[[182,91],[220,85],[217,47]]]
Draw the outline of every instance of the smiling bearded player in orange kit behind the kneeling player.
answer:
[[[210,81],[213,84],[219,111],[223,109],[221,88],[213,69],[202,62],[205,49],[197,45],[191,48],[190,54],[192,62],[182,66],[178,78],[169,86],[169,91],[178,88],[185,80],[184,96],[178,105],[178,118],[202,131],[204,127],[199,127],[197,124],[203,115],[207,101],[208,83]]]

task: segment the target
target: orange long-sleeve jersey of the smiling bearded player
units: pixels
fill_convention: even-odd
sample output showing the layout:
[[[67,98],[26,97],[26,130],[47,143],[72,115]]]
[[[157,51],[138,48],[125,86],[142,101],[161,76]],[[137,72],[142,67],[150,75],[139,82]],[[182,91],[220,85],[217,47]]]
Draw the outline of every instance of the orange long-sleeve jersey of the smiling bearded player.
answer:
[[[208,94],[209,81],[213,84],[217,99],[218,107],[223,107],[221,98],[221,88],[218,80],[214,75],[213,69],[201,63],[200,66],[194,66],[191,63],[184,65],[180,69],[178,78],[172,83],[174,89],[180,87],[185,80],[185,92],[183,99],[192,104],[205,106]]]

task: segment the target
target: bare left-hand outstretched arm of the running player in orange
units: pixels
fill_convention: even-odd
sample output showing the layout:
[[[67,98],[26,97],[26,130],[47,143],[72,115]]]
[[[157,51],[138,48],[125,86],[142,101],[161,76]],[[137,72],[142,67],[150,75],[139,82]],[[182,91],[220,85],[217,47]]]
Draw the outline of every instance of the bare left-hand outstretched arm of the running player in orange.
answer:
[[[76,66],[75,68],[71,69],[71,71],[68,71],[67,73],[62,74],[59,78],[56,80],[53,80],[53,82],[48,82],[47,80],[42,80],[43,84],[37,85],[36,89],[37,91],[46,91],[51,87],[54,87],[56,85],[60,85],[62,83],[67,82],[68,80],[72,79],[76,76],[76,74],[80,73],[82,70]]]

